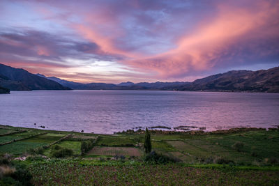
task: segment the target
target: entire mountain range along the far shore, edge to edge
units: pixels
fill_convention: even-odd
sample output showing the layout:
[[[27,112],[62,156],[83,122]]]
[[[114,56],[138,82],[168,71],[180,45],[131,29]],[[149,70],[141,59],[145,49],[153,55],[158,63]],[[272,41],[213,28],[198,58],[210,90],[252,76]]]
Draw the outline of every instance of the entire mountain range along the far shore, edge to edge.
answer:
[[[0,64],[0,93],[30,90],[165,90],[235,91],[279,93],[279,67],[269,70],[232,70],[194,82],[122,82],[120,84],[70,82],[57,77],[33,75],[21,68]]]

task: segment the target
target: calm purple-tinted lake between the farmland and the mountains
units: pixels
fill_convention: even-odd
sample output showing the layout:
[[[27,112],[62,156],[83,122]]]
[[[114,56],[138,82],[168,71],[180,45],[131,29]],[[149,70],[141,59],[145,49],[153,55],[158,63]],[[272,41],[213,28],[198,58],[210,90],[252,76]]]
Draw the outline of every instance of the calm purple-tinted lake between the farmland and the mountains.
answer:
[[[12,91],[0,95],[0,124],[103,134],[156,125],[274,127],[279,125],[279,94]]]

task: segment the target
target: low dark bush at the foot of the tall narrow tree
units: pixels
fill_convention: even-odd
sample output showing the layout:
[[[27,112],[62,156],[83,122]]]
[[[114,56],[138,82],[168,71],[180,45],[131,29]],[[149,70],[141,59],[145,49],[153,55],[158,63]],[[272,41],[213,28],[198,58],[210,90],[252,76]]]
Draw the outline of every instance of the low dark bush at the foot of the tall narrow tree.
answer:
[[[181,162],[181,160],[162,154],[159,155],[155,151],[152,151],[151,153],[145,155],[144,162],[151,164],[167,164],[169,162]]]

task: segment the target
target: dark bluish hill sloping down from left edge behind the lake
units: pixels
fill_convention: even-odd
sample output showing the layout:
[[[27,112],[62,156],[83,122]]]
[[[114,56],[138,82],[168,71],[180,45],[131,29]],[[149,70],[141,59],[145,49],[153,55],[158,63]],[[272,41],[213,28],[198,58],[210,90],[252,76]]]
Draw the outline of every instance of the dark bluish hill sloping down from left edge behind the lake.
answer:
[[[0,86],[10,91],[70,90],[57,82],[33,75],[22,68],[13,68],[3,64],[0,64]]]

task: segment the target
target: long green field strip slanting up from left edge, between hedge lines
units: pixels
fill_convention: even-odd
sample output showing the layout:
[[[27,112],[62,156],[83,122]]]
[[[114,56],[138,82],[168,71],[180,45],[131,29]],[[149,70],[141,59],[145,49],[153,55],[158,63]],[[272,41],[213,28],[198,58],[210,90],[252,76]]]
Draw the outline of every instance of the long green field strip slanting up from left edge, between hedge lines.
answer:
[[[61,139],[61,137],[63,136],[65,135],[50,133],[50,134],[43,134],[37,137],[32,137],[30,139],[15,141],[11,144],[0,146],[0,153],[11,153],[11,154],[19,155],[21,153],[24,153],[30,148],[38,148],[39,146],[47,146],[49,144],[52,144],[54,141]]]

